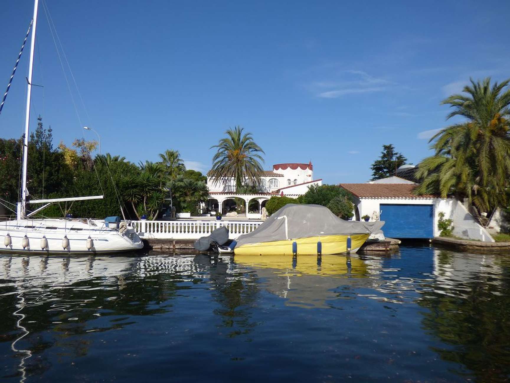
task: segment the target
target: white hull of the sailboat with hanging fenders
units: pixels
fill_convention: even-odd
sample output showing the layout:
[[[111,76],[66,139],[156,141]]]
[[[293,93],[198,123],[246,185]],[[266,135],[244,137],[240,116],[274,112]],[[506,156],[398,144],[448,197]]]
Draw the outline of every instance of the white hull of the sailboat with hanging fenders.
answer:
[[[0,252],[90,254],[141,248],[143,243],[133,229],[121,232],[98,220],[44,219],[0,223]]]

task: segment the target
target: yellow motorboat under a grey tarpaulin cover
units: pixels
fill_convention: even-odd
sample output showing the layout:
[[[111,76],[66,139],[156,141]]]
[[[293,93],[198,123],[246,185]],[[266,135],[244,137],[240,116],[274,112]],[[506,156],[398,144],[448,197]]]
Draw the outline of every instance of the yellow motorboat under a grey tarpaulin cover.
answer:
[[[236,239],[236,255],[355,252],[383,221],[344,221],[321,205],[288,204],[251,233]]]

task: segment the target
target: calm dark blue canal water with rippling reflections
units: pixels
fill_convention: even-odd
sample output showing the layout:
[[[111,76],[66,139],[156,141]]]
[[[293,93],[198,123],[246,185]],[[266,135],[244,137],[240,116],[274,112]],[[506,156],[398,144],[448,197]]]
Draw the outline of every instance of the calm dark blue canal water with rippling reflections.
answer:
[[[0,255],[0,380],[508,381],[510,256]]]

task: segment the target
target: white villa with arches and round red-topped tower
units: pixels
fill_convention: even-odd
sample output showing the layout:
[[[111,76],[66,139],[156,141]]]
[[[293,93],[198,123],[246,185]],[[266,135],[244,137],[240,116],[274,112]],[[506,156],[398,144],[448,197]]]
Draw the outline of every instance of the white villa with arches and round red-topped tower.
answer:
[[[288,196],[297,198],[307,192],[311,185],[322,185],[322,179],[314,180],[313,165],[309,163],[277,163],[273,169],[261,175],[260,193],[238,194],[234,178],[226,182],[214,182],[207,176],[209,201],[206,209],[210,212],[220,211],[226,214],[235,211],[237,206],[234,198],[244,200],[246,218],[260,219],[262,208],[272,196]]]

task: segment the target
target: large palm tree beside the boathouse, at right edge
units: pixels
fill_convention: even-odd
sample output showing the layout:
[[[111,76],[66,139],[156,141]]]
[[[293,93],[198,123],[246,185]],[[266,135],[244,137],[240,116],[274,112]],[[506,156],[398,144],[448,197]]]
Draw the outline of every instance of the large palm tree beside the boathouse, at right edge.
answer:
[[[479,211],[489,212],[506,203],[510,186],[510,79],[471,81],[464,94],[453,94],[442,102],[453,110],[447,119],[465,121],[442,129],[429,142],[435,154],[418,166],[421,179],[417,193],[454,194],[468,198]]]

